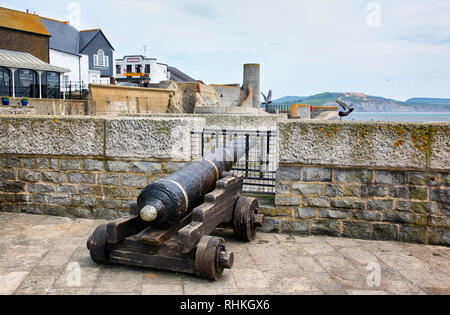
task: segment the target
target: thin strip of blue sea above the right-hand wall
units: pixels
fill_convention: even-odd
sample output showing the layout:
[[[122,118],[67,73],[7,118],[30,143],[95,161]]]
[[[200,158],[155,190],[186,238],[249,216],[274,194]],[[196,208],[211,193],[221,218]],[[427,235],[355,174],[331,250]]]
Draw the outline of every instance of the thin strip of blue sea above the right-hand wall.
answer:
[[[450,122],[450,112],[431,113],[351,113],[342,120],[398,121],[398,122]]]

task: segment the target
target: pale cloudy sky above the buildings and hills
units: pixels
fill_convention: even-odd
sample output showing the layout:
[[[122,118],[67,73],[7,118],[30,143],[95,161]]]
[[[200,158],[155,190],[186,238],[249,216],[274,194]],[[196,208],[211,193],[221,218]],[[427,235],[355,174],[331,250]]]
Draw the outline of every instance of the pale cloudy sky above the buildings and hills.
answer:
[[[205,83],[261,64],[274,98],[362,92],[450,98],[448,0],[0,0],[101,28],[116,57],[143,54]],[[78,8],[80,10],[78,10]],[[78,14],[80,12],[80,14]]]

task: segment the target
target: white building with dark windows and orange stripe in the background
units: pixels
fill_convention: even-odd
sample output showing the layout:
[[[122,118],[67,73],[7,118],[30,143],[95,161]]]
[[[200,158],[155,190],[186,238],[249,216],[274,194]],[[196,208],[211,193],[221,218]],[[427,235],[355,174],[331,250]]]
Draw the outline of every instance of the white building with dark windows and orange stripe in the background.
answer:
[[[158,63],[155,58],[142,55],[125,56],[116,59],[117,82],[133,82],[137,84],[159,83],[170,80],[166,64]]]

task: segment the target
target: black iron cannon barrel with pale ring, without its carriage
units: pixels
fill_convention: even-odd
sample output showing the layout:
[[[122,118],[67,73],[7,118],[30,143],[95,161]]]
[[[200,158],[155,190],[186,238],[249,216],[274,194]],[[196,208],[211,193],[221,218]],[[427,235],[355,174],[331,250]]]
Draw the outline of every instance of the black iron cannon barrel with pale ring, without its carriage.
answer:
[[[254,146],[254,141],[234,140],[177,172],[149,184],[137,199],[141,219],[153,227],[173,225],[199,206],[213,191],[222,173]]]

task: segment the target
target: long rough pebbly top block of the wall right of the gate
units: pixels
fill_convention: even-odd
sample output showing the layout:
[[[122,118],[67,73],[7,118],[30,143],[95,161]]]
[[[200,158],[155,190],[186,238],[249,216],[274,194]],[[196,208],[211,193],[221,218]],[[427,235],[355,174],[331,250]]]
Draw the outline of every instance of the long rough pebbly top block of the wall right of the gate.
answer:
[[[450,160],[449,126],[423,123],[295,120],[278,124],[280,162],[335,166],[426,168]]]

